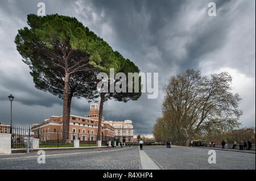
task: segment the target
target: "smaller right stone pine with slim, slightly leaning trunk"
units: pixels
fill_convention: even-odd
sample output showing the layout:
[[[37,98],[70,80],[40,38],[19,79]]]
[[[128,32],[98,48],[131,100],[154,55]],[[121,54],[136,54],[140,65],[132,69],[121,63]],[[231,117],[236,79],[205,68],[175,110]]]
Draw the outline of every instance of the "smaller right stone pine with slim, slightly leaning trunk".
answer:
[[[138,66],[136,66],[133,62],[131,62],[129,59],[125,59],[123,58],[123,56],[115,51],[114,52],[115,57],[117,58],[118,61],[118,68],[117,70],[115,70],[115,73],[123,73],[125,75],[125,77],[128,77],[128,73],[139,73],[139,69]],[[109,71],[106,72],[109,75]],[[109,77],[109,76],[108,76]],[[102,112],[103,112],[103,106],[104,106],[104,102],[106,102],[108,99],[114,99],[117,100],[119,102],[127,102],[129,100],[137,100],[139,99],[139,97],[141,96],[141,78],[138,77],[138,91],[135,91],[135,81],[131,81],[132,88],[133,91],[129,92],[128,91],[128,85],[129,82],[127,80],[123,81],[123,83],[121,83],[120,85],[118,84],[120,81],[120,77],[119,79],[115,79],[112,80],[113,81],[113,85],[115,86],[119,86],[119,88],[122,89],[123,87],[123,91],[121,92],[117,92],[114,90],[110,91],[110,79],[107,79],[105,81],[108,81],[109,86],[108,86],[108,91],[107,92],[101,92],[100,93],[100,109],[99,109],[99,117],[98,117],[98,132],[97,132],[97,141],[101,140],[101,120],[102,120]]]

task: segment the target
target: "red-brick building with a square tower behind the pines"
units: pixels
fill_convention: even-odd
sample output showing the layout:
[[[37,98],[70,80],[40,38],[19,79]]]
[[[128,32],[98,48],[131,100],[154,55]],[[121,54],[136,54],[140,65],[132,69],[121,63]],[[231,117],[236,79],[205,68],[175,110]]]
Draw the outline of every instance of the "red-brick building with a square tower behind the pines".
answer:
[[[92,103],[90,104],[89,115],[85,117],[70,115],[69,139],[72,140],[72,137],[74,137],[74,139],[81,141],[96,141],[98,132],[98,112],[98,104]],[[56,136],[53,137],[52,133],[62,132],[62,121],[63,116],[51,116],[49,119],[44,120],[43,123],[33,124],[31,131],[35,135],[39,135],[40,140],[55,140]],[[101,140],[105,140],[106,136],[113,137],[114,128],[109,123],[106,123],[104,117],[102,117]]]

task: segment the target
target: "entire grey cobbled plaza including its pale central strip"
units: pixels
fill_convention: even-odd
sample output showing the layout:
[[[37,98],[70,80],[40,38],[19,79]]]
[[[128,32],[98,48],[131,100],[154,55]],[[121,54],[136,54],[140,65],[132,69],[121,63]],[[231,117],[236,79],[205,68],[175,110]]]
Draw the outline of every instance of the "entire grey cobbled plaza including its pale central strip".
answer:
[[[38,163],[36,152],[0,155],[0,169],[255,169],[255,154],[216,151],[209,164],[209,149],[172,146],[138,146],[46,151],[46,163]]]

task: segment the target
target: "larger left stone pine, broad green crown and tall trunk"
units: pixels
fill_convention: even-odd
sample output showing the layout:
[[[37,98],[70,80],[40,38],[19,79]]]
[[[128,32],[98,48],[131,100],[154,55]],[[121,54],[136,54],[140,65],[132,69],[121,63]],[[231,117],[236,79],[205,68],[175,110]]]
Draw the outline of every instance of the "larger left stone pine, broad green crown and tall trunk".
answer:
[[[53,84],[49,82],[51,86],[43,90],[50,90],[55,94],[54,83],[59,82],[59,79],[64,82],[61,97],[63,98],[63,140],[65,143],[69,132],[71,80],[80,77],[85,71],[91,70],[93,73],[96,69],[106,71],[110,67],[115,68],[118,66],[117,60],[112,56],[113,50],[108,43],[90,31],[88,27],[84,27],[76,18],[57,14],[43,17],[30,14],[27,16],[27,23],[30,28],[24,27],[15,37],[16,48],[22,55],[23,62],[30,66],[32,76],[36,72],[50,76],[57,74],[53,75],[51,71],[59,72],[56,79],[52,77]],[[35,75],[35,77],[40,77],[40,75]],[[34,81],[36,80],[34,78]],[[42,81],[47,81],[47,78]],[[35,85],[37,88],[40,87],[37,83]]]

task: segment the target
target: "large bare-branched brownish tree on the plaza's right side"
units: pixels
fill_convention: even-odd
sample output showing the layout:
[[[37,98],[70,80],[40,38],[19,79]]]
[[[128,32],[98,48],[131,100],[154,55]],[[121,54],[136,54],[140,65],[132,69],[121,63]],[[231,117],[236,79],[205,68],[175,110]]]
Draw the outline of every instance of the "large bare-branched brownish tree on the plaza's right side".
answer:
[[[196,134],[229,131],[238,127],[241,98],[230,90],[232,77],[225,72],[202,76],[187,70],[164,87],[163,117],[173,138],[185,138],[189,146]]]

